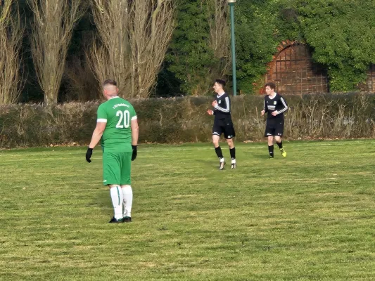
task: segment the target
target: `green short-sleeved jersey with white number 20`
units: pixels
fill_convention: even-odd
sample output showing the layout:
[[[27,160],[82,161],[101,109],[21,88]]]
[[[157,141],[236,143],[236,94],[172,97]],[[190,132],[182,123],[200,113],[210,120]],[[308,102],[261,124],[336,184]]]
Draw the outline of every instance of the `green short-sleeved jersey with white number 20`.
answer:
[[[134,107],[123,98],[110,98],[99,105],[97,122],[107,123],[101,137],[103,152],[132,152],[130,124],[134,119]]]

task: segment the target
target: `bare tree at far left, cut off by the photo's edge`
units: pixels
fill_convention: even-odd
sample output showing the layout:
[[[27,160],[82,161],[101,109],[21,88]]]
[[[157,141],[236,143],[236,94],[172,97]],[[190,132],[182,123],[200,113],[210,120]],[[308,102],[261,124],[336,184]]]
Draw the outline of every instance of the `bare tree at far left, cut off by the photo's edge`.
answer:
[[[5,0],[0,7],[0,105],[16,103],[22,90],[20,45],[23,27],[20,14],[12,12],[14,0]]]

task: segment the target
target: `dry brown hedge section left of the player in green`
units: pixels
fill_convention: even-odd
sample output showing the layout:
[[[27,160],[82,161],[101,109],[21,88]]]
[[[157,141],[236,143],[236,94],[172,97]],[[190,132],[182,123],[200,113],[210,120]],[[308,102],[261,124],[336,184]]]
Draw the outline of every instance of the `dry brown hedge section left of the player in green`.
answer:
[[[0,107],[0,148],[84,144],[95,127],[98,103]]]

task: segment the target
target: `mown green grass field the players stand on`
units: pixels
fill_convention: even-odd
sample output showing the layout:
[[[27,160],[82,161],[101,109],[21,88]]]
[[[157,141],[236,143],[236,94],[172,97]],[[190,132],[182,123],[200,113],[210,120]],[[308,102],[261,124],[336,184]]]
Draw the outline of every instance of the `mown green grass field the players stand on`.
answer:
[[[140,145],[116,225],[99,148],[0,151],[0,280],[375,280],[374,144]]]

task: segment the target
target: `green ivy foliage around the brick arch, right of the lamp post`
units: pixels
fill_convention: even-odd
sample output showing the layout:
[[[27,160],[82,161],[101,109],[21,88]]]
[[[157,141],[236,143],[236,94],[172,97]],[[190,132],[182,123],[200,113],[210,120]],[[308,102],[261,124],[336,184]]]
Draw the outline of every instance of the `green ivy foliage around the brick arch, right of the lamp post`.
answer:
[[[277,45],[296,40],[328,69],[331,91],[352,91],[375,63],[373,0],[255,0],[236,5],[239,85],[254,91]]]

